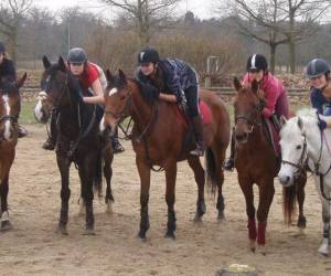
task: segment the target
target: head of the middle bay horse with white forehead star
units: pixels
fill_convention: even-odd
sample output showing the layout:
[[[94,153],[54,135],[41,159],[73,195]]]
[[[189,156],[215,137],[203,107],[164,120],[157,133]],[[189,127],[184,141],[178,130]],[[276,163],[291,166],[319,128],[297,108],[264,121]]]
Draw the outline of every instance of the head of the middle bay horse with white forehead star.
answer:
[[[130,104],[130,89],[128,79],[121,70],[118,75],[111,75],[110,71],[106,71],[108,86],[105,92],[105,114],[100,121],[100,130],[104,131],[108,126],[111,131],[122,119],[128,117]]]

